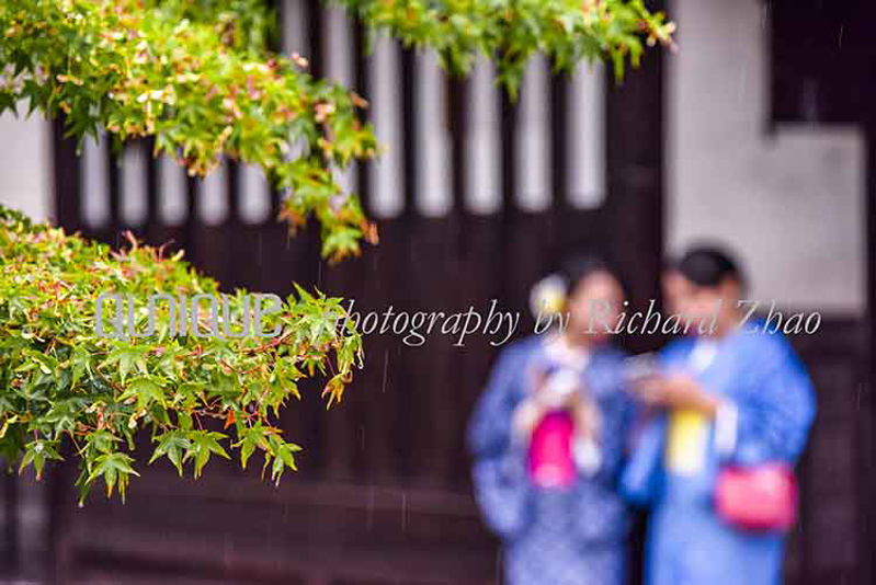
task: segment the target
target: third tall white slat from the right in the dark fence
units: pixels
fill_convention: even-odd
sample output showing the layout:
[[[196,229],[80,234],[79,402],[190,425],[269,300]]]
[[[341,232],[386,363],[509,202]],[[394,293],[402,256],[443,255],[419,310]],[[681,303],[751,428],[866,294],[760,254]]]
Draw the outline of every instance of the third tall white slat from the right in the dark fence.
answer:
[[[475,214],[493,214],[502,205],[500,193],[499,106],[496,70],[486,58],[470,76],[466,127],[466,206]]]

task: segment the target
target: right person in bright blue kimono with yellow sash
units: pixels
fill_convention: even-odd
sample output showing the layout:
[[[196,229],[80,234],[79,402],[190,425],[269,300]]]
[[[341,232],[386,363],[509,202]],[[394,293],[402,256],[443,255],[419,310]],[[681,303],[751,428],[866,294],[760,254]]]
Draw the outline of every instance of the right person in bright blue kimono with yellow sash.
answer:
[[[716,508],[716,478],[724,466],[793,466],[816,412],[812,386],[788,341],[747,319],[743,277],[728,254],[693,249],[663,284],[670,311],[691,326],[661,352],[660,374],[637,385],[657,415],[622,481],[652,511],[646,582],[778,584],[784,531],[727,521]]]

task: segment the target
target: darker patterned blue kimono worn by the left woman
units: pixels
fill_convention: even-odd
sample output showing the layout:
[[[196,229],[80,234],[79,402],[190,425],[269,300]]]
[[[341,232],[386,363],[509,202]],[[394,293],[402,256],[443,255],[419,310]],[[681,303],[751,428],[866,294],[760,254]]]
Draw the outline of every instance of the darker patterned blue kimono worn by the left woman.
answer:
[[[474,484],[487,525],[502,539],[511,585],[621,585],[626,581],[627,509],[616,480],[633,402],[622,391],[623,354],[598,349],[581,376],[602,417],[599,470],[571,489],[535,486],[525,448],[512,439],[512,413],[532,389],[534,366],[549,364],[542,337],[499,356],[468,428]]]

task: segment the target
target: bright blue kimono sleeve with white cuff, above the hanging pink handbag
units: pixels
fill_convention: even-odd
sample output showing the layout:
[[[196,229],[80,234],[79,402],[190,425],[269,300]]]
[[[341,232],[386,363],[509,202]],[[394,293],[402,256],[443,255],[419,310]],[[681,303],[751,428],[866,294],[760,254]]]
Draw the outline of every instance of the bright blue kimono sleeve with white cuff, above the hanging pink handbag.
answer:
[[[718,454],[743,466],[794,463],[816,413],[815,391],[803,364],[781,337],[758,342],[741,362],[742,387],[718,411]]]

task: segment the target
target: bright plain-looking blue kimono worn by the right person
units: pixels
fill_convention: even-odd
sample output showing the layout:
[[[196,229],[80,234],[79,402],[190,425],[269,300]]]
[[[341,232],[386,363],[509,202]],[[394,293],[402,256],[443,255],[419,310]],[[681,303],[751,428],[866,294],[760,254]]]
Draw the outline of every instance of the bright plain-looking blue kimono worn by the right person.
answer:
[[[762,328],[762,323],[756,323]],[[803,364],[781,334],[739,330],[718,341],[699,371],[690,367],[696,339],[678,340],[662,352],[661,367],[686,369],[725,399],[703,435],[702,456],[683,471],[667,456],[670,417],[653,420],[637,440],[623,489],[652,507],[646,582],[649,585],[774,585],[782,582],[785,535],[746,532],[724,523],[714,506],[723,462],[794,463],[816,411]]]

